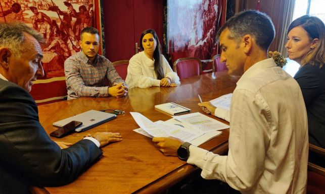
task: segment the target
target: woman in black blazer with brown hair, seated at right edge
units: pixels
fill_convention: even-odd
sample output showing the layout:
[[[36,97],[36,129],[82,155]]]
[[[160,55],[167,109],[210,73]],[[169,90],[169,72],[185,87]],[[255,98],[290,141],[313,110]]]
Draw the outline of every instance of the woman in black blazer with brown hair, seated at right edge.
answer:
[[[313,16],[294,20],[288,29],[289,58],[300,64],[300,85],[308,116],[309,143],[325,148],[325,25]]]

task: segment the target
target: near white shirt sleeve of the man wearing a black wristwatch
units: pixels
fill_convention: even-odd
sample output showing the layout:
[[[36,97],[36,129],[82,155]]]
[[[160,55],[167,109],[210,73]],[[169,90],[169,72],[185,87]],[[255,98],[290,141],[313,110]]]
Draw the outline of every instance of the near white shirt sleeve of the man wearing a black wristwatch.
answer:
[[[219,179],[237,190],[252,188],[264,169],[270,111],[261,95],[236,90],[231,105],[228,156],[190,146],[189,164],[206,179]]]

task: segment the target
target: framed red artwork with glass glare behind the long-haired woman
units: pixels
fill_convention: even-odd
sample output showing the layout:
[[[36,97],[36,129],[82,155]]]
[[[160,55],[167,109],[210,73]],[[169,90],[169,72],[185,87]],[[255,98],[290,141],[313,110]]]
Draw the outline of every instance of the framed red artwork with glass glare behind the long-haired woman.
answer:
[[[181,57],[211,59],[218,53],[215,35],[225,22],[225,0],[166,0],[164,51]],[[165,41],[166,40],[166,41]]]

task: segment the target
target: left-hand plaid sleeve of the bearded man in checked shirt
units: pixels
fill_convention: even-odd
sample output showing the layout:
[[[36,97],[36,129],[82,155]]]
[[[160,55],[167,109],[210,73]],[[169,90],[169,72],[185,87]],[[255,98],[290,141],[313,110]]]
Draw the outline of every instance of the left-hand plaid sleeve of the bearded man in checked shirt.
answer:
[[[90,87],[85,86],[82,77],[80,75],[79,64],[71,58],[68,58],[64,62],[64,73],[66,82],[70,85],[71,90],[79,96],[90,96],[90,97],[107,97],[108,87]]]

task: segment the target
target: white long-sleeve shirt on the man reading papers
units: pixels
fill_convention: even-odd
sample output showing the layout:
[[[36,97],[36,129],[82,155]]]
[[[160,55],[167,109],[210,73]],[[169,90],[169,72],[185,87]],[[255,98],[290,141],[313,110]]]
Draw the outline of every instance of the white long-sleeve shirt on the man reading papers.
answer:
[[[297,82],[272,58],[249,68],[230,105],[228,156],[190,146],[189,164],[242,193],[305,193],[307,115]]]

